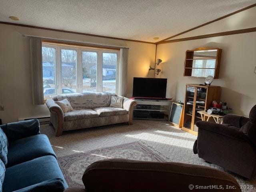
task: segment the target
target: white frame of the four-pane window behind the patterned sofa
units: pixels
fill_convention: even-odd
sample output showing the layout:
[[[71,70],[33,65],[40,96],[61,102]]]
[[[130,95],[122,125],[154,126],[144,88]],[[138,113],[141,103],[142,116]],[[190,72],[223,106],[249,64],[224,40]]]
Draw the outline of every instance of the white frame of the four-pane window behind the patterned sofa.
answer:
[[[116,91],[119,92],[119,69],[120,69],[120,50],[104,50],[96,48],[74,48],[70,46],[52,45],[47,42],[42,42],[42,47],[55,48],[55,89],[56,94],[44,95],[44,98],[51,98],[58,94],[62,94],[62,56],[61,50],[75,50],[76,51],[76,92],[82,93],[83,90],[83,72],[82,72],[82,52],[96,52],[97,53],[97,73],[96,73],[96,92],[102,92],[103,89],[103,53],[114,53],[117,56],[116,60]]]

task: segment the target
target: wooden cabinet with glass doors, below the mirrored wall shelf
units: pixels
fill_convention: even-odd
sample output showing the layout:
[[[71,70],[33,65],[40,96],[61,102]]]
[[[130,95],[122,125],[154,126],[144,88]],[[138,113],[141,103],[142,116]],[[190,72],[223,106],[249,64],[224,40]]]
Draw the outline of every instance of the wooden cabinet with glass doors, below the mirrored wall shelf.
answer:
[[[220,86],[186,84],[182,130],[197,135],[196,122],[202,120],[198,111],[208,110],[214,100],[220,100]]]

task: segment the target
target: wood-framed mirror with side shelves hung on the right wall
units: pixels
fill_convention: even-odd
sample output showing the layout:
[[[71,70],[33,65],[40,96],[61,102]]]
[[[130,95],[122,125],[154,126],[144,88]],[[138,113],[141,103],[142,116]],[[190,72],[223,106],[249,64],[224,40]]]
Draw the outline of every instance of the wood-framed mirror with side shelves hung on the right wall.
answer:
[[[184,76],[219,77],[220,58],[222,49],[219,48],[198,48],[187,50],[185,58]]]

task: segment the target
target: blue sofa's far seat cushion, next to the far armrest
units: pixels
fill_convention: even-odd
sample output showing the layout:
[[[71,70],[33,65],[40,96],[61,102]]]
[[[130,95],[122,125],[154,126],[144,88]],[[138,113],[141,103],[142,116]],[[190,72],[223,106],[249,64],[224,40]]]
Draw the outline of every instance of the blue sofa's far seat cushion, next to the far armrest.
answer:
[[[50,141],[44,134],[15,140],[10,143],[8,148],[7,167],[46,155],[52,155],[56,158]]]

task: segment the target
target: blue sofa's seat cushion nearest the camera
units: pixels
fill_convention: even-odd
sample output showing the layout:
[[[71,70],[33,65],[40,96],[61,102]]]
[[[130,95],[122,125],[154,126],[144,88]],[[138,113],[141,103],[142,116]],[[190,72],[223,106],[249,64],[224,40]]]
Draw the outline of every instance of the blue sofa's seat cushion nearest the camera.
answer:
[[[68,188],[56,158],[51,155],[39,157],[6,168],[3,192],[19,190],[53,178],[62,179],[64,188]]]

